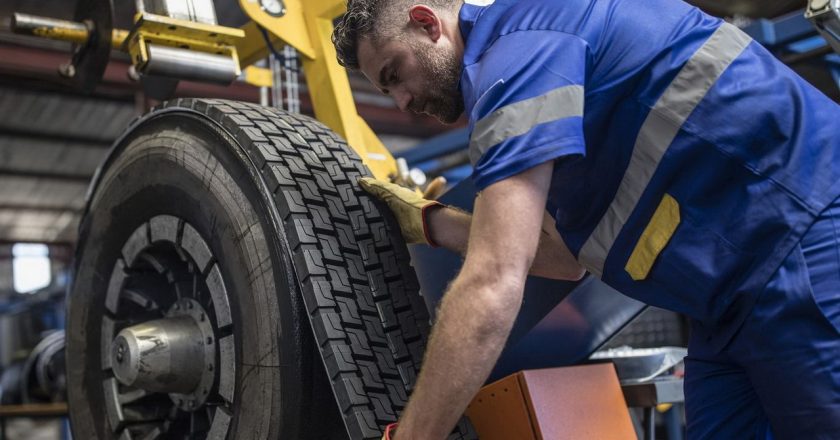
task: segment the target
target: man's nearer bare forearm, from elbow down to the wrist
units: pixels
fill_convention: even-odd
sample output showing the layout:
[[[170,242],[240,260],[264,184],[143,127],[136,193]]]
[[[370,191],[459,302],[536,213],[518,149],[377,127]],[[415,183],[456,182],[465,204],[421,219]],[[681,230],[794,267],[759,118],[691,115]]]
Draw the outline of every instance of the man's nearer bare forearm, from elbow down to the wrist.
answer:
[[[446,438],[501,354],[521,297],[522,286],[469,275],[455,280],[441,303],[397,440]]]

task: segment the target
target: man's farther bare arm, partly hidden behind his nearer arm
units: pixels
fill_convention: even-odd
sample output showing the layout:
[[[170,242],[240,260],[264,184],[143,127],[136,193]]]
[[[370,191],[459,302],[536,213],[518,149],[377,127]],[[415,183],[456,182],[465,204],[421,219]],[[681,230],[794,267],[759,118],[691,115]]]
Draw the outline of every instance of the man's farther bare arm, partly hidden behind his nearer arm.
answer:
[[[430,212],[428,221],[429,232],[435,243],[461,255],[466,254],[472,215],[446,207]],[[577,281],[585,273],[557,233],[551,217],[544,213],[540,244],[529,274],[555,280]]]

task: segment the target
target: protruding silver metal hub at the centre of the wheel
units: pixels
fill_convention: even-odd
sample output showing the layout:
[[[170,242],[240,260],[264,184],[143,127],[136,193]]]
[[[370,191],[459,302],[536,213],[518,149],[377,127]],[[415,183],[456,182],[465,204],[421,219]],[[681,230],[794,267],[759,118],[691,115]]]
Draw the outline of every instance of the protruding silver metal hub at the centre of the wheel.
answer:
[[[123,385],[169,393],[181,409],[201,406],[214,382],[216,344],[207,313],[182,298],[166,317],[127,327],[111,344],[114,376]]]

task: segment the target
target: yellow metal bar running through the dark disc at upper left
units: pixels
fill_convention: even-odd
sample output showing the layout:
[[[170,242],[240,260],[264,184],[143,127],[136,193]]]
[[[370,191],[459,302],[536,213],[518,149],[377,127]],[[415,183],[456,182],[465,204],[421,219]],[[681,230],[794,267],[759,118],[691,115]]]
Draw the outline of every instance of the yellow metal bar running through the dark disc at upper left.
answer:
[[[11,28],[16,34],[67,41],[79,45],[87,43],[91,34],[91,29],[84,23],[20,13],[12,15]],[[120,49],[126,38],[128,38],[128,31],[114,29],[111,33],[111,47]]]

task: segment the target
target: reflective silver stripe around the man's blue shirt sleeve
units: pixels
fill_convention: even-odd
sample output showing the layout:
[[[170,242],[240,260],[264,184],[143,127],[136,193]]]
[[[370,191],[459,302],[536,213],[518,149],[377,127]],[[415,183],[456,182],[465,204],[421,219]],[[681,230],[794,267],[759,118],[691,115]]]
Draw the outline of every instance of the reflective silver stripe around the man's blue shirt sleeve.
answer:
[[[475,165],[491,147],[521,136],[537,125],[572,116],[583,116],[583,86],[560,87],[502,107],[475,123],[470,161]]]

